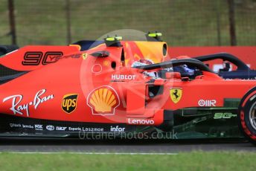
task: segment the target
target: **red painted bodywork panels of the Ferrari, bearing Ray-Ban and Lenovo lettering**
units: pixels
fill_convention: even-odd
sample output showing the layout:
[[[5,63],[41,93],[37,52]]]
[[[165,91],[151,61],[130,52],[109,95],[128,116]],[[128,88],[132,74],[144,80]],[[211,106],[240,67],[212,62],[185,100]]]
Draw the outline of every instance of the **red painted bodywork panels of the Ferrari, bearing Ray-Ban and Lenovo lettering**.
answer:
[[[256,86],[252,80],[223,80],[207,71],[191,81],[182,81],[179,74],[154,79],[131,65],[140,59],[166,60],[164,42],[121,44],[123,47],[102,44],[88,51],[76,46],[28,46],[7,54],[1,65],[29,72],[0,86],[0,112],[45,120],[159,125],[164,110],[223,107],[225,99],[241,99]],[[36,54],[36,59],[26,60],[28,51],[42,52],[42,59]],[[99,51],[109,52],[109,57],[92,56]],[[47,52],[63,55],[51,54],[45,60],[49,63],[43,64]],[[38,65],[22,65],[24,61]],[[150,97],[149,88],[154,86],[163,88],[162,92]],[[177,93],[179,99],[173,99]]]

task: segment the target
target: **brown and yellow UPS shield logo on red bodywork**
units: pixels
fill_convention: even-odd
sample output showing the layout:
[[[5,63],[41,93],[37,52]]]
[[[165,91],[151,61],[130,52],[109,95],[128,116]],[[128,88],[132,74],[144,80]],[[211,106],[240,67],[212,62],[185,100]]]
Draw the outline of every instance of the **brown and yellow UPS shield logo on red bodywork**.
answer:
[[[74,112],[74,110],[77,108],[77,96],[78,94],[65,94],[65,96],[63,96],[61,107],[64,112],[68,114]]]

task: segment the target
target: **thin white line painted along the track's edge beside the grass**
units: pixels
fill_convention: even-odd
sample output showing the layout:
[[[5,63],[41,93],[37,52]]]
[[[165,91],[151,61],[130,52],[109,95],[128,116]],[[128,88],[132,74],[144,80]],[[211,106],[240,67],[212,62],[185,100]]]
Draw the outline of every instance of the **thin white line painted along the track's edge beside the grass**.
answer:
[[[177,155],[177,153],[163,152],[0,152],[0,154],[74,154],[74,155]]]

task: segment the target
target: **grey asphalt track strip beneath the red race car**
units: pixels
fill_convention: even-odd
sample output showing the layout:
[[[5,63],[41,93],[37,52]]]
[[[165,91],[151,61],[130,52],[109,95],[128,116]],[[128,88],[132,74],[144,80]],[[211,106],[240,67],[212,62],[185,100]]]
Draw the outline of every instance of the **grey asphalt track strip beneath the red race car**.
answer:
[[[256,146],[241,140],[88,141],[60,138],[0,138],[0,152],[179,153],[196,150],[256,152]]]

